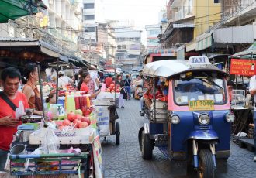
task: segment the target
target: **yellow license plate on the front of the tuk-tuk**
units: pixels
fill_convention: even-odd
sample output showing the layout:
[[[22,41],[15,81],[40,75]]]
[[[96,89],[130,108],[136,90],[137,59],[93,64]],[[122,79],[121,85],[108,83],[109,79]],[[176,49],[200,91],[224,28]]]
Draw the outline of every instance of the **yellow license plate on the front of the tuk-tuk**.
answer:
[[[209,111],[214,110],[213,100],[189,101],[189,111]]]

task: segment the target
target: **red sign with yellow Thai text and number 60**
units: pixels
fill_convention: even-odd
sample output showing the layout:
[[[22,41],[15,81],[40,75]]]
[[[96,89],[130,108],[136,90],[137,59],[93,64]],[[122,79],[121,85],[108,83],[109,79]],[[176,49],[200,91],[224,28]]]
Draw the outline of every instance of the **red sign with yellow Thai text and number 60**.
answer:
[[[230,74],[253,76],[255,75],[256,60],[231,59]]]

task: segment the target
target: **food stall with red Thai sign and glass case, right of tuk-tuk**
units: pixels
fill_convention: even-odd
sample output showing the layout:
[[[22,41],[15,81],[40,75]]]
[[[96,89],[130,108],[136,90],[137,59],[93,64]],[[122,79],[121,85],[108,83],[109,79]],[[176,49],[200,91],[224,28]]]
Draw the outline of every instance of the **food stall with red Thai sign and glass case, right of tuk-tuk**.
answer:
[[[230,56],[230,82],[231,110],[236,115],[232,126],[234,142],[254,147],[253,137],[253,101],[248,91],[249,78],[256,74],[254,51],[244,51]],[[252,128],[252,129],[251,129]],[[243,143],[243,144],[242,144]],[[252,144],[253,143],[253,144]]]

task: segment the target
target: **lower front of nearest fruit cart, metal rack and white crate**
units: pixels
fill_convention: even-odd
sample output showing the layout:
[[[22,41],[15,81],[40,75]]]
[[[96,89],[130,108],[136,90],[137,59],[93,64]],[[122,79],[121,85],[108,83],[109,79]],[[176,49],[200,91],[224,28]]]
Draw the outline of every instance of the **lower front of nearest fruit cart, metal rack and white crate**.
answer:
[[[47,125],[50,123],[41,123],[39,128],[31,123],[19,126],[9,156],[12,176],[101,177],[101,148],[95,128],[61,131]]]

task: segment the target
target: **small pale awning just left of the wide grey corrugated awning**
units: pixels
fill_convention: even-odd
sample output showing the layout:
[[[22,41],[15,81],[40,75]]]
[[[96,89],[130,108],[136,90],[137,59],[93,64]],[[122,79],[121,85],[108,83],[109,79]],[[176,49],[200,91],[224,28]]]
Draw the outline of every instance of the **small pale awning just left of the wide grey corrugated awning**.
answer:
[[[195,50],[204,50],[213,45],[213,33],[203,33],[202,35],[196,37]]]

